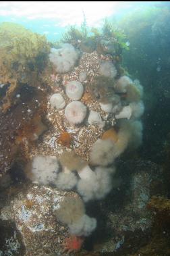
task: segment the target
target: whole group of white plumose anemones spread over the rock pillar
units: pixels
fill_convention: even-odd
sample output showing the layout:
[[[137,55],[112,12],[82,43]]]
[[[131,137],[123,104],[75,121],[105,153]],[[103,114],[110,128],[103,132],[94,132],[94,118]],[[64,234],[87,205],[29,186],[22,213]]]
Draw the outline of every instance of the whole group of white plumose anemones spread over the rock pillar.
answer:
[[[72,45],[64,45],[62,49],[52,49],[50,59],[55,64],[57,72],[65,73],[75,65],[78,52]],[[84,202],[103,199],[110,193],[114,184],[115,168],[113,163],[115,159],[127,147],[138,147],[142,142],[142,123],[139,120],[144,112],[144,104],[141,100],[142,86],[137,80],[133,82],[128,76],[116,79],[117,70],[111,61],[102,61],[99,72],[103,76],[115,79],[115,95],[113,95],[112,101],[100,103],[100,105],[103,111],[114,114],[118,120],[117,140],[98,138],[92,146],[90,162],[76,170],[72,170],[72,168],[69,170],[65,163],[59,162],[59,159],[54,156],[38,155],[32,159],[33,182],[45,185],[53,184],[62,190],[76,189]],[[87,111],[86,105],[80,101],[84,93],[81,82],[85,79],[86,73],[82,72],[80,82],[68,82],[65,86],[65,96],[61,93],[51,96],[51,106],[57,111],[65,108],[65,119],[71,125],[82,124],[89,112],[88,124],[104,128],[105,121],[102,120],[101,114],[93,110]],[[128,95],[126,105],[121,105],[119,94]],[[64,99],[66,96],[69,101],[71,100],[67,105]],[[74,157],[72,161],[74,161]],[[80,200],[73,204],[70,204],[69,201],[65,200],[61,204],[61,212],[60,210],[57,212],[57,217],[68,225],[72,234],[88,236],[96,228],[96,220],[85,214],[84,205]]]

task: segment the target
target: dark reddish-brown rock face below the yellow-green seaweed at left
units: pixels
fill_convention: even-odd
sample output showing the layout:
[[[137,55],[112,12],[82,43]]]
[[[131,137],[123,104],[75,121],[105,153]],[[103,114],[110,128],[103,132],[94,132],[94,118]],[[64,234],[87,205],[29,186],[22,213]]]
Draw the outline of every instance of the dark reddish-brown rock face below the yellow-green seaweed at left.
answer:
[[[45,109],[45,102],[45,93],[23,86],[17,105],[0,113],[0,179],[17,159],[23,160],[29,142],[47,130],[40,110]]]

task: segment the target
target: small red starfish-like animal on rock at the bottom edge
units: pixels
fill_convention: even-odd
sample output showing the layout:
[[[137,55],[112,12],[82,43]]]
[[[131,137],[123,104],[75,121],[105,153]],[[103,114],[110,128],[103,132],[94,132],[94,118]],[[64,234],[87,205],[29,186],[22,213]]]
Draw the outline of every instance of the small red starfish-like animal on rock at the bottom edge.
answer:
[[[67,253],[78,253],[82,248],[82,244],[84,242],[84,237],[82,236],[70,236],[65,238],[63,242],[63,251],[67,251]]]

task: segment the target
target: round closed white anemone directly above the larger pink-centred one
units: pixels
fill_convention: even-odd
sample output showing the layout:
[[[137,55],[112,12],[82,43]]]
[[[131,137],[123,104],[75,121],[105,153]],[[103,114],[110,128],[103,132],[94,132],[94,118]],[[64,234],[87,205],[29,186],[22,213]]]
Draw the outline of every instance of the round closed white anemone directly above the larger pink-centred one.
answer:
[[[72,99],[73,101],[78,101],[82,98],[84,92],[84,88],[81,84],[81,82],[78,81],[71,81],[68,82],[65,88],[65,93],[69,99]]]

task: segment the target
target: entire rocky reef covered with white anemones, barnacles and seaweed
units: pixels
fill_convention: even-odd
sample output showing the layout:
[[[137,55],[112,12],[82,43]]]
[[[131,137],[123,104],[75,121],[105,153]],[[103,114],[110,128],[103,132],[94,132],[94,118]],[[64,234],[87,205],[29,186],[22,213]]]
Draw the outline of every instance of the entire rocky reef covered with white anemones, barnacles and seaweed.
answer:
[[[0,26],[1,255],[131,255],[152,234],[164,180],[136,153],[143,88],[124,35],[92,31],[52,45]]]

